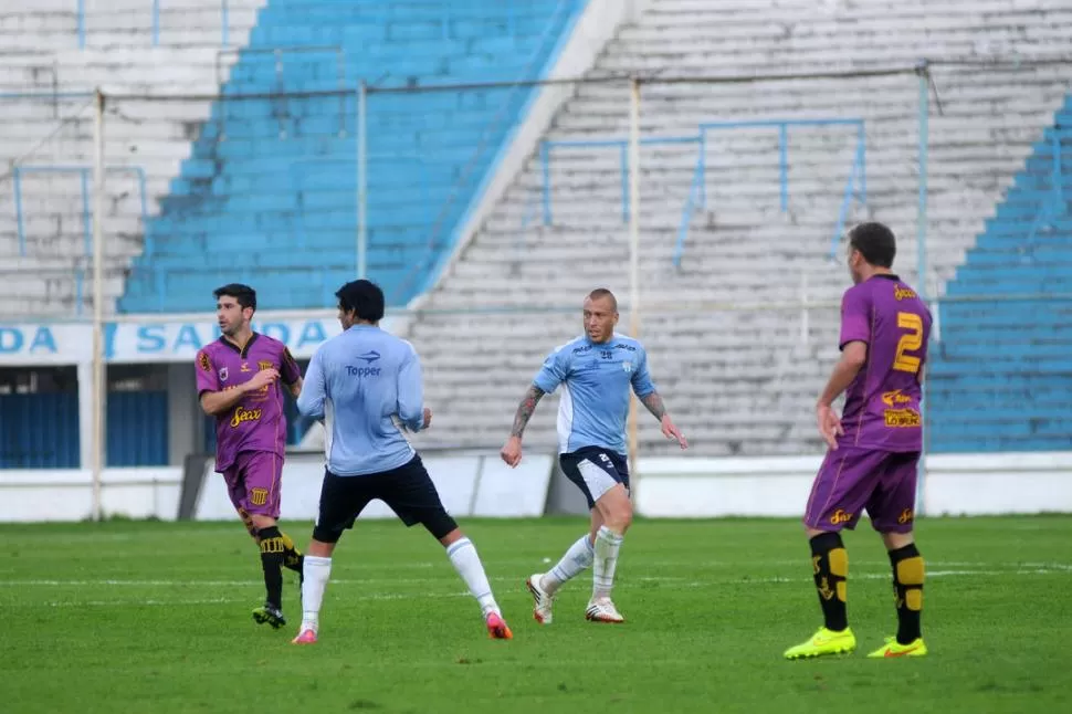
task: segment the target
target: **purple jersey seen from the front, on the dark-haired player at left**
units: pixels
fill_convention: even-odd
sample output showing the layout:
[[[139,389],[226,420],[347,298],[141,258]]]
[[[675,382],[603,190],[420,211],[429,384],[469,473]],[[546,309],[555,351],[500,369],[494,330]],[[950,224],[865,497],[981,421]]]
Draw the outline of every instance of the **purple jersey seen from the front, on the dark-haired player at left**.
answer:
[[[302,372],[283,343],[256,333],[244,349],[220,337],[197,355],[199,397],[206,391],[234,389],[258,371],[271,368],[280,371],[278,381],[246,393],[216,419],[216,470],[220,473],[232,466],[240,453],[263,451],[283,456],[286,418],[282,385],[294,384]]]

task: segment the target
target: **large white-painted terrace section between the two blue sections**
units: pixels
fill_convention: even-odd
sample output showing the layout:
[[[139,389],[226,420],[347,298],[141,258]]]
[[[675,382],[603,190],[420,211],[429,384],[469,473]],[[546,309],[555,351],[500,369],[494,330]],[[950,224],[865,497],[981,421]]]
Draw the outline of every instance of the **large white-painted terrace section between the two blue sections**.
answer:
[[[922,56],[1045,57],[1066,49],[1058,28],[1070,19],[1068,8],[1042,2],[917,1],[894,8],[828,2],[817,12],[813,2],[656,0],[634,27],[620,32],[590,76],[807,74],[911,67]],[[929,122],[926,287],[943,294],[1069,87],[1066,66],[1060,65],[982,73],[936,66],[933,72],[942,111],[933,112]],[[578,86],[547,138],[623,138],[627,96],[621,85]],[[854,201],[848,219],[873,217],[895,227],[902,237],[898,271],[917,281],[917,104],[918,82],[904,76],[652,84],[643,91],[642,129],[645,136],[686,136],[715,119],[862,118],[866,204]],[[834,265],[828,256],[854,135],[839,127],[789,133],[787,211],[779,210],[777,132],[742,130],[719,140],[715,150],[708,144],[718,170],[708,171],[708,208],[693,217],[680,270],[672,262],[675,235],[696,149],[652,146],[642,151],[642,302],[785,303],[800,298],[803,273],[809,300],[835,303],[848,275],[840,249]],[[427,359],[429,399],[439,407],[437,439],[486,443],[505,438],[546,349],[579,334],[585,292],[606,284],[626,295],[627,231],[616,151],[554,149],[553,219],[546,227],[526,222],[530,207],[542,200],[540,172],[539,156],[534,156],[424,306],[481,311],[576,302],[578,309],[494,318],[430,312],[417,321],[412,339]],[[623,330],[628,324],[623,315]],[[679,424],[686,433],[703,434],[694,440],[695,452],[760,455],[819,449],[811,407],[837,355],[837,309],[810,311],[803,324],[799,308],[649,311],[642,334]],[[554,406],[543,405],[529,443],[553,444],[554,423]],[[943,428],[935,424],[934,437],[943,448],[975,448],[975,442],[943,437]],[[428,437],[433,438],[431,432]],[[640,443],[647,454],[675,449],[645,416]],[[1011,440],[1003,443],[1012,445]]]

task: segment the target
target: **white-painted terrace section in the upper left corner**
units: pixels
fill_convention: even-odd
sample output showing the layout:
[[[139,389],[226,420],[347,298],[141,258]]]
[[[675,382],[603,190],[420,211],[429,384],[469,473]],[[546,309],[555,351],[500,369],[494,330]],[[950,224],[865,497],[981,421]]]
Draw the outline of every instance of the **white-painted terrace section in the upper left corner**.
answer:
[[[228,41],[243,45],[263,0],[230,0]],[[42,0],[0,11],[0,314],[88,314],[91,93],[209,95],[234,53],[219,0]],[[80,27],[82,28],[80,31]],[[84,44],[84,46],[80,46]],[[106,311],[143,251],[144,217],[189,155],[208,116],[201,99],[123,101],[105,108]]]

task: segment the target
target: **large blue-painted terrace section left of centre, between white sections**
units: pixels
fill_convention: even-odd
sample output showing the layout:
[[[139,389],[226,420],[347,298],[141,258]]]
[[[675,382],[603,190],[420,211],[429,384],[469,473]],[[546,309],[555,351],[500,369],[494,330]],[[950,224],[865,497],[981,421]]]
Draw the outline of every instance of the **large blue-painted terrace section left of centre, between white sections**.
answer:
[[[533,78],[584,6],[269,0],[149,221],[119,309],[204,309],[213,287],[242,275],[265,308],[323,307],[355,276],[358,82]],[[295,96],[340,86],[349,94]],[[393,304],[416,296],[451,250],[530,93],[368,95],[367,261]]]

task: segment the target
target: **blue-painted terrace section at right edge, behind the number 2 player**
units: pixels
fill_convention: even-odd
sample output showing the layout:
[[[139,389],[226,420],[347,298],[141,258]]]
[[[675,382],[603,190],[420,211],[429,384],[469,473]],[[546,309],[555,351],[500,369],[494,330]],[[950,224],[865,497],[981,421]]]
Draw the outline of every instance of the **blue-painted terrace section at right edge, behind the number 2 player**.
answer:
[[[1070,200],[1072,95],[946,286],[955,300],[939,308],[928,368],[933,451],[1072,448],[1072,302],[1041,298],[1072,295]]]

